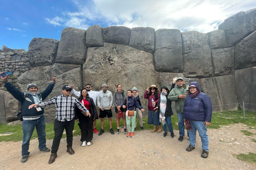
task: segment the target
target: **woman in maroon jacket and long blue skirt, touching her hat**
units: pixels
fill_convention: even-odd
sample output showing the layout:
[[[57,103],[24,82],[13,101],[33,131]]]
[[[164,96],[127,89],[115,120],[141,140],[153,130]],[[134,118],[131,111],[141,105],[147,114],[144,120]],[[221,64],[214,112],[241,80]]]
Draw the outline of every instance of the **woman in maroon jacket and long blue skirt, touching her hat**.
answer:
[[[160,93],[158,92],[156,85],[147,88],[144,93],[144,98],[148,99],[148,124],[154,124],[154,129],[151,130],[151,132],[154,133],[157,131],[157,133],[160,133],[162,131],[162,126],[159,122],[159,111],[153,112],[160,98]],[[158,130],[156,128],[157,126]]]

